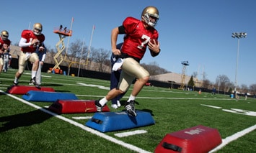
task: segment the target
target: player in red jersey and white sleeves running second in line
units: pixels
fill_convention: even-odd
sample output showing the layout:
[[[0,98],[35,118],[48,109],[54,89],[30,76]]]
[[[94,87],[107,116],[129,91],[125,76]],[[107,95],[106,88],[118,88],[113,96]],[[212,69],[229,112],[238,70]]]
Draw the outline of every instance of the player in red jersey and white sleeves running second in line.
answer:
[[[32,65],[32,78],[31,81],[34,85],[39,85],[35,81],[35,75],[37,73],[39,58],[35,50],[39,47],[39,50],[44,50],[43,42],[45,41],[45,35],[42,34],[43,26],[40,23],[35,23],[33,29],[25,29],[22,31],[22,38],[19,40],[19,47],[22,52],[19,55],[19,70],[15,74],[14,85],[19,83],[19,78],[25,70],[27,60],[33,62]]]

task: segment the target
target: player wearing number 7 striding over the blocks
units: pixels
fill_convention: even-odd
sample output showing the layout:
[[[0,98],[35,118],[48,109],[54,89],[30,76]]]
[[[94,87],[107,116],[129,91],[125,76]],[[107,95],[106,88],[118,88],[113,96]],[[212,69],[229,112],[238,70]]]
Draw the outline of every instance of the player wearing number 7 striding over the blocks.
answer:
[[[128,91],[129,86],[136,78],[130,98],[125,103],[125,108],[129,116],[136,116],[134,108],[135,98],[144,85],[149,80],[149,72],[140,64],[140,60],[144,57],[146,47],[149,48],[151,56],[159,55],[160,44],[158,40],[159,33],[154,28],[159,20],[159,11],[154,6],[147,6],[141,14],[141,20],[133,17],[127,17],[123,21],[123,25],[115,27],[111,32],[112,53],[120,57],[120,61],[115,63],[120,65],[122,72],[120,74],[120,82],[117,88],[113,88],[107,95],[95,101],[97,111],[102,111],[107,101]],[[125,34],[123,47],[121,50],[116,48],[118,34]],[[154,43],[153,43],[154,42]],[[113,68],[115,65],[113,66]]]

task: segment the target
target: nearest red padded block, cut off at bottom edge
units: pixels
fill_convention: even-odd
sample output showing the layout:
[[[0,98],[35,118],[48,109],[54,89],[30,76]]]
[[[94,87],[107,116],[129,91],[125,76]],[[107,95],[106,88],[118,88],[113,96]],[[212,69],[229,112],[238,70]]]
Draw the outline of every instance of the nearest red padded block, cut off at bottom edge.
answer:
[[[222,139],[217,129],[199,125],[166,134],[164,139],[157,145],[155,153],[207,153],[221,144],[221,142]]]

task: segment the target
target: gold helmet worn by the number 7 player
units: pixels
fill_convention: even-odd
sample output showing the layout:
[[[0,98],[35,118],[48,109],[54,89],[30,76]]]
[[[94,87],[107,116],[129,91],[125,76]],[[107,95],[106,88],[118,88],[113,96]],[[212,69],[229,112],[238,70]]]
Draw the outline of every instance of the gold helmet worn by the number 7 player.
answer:
[[[149,17],[155,19],[155,22],[151,22]],[[155,27],[157,21],[159,20],[159,11],[155,6],[147,6],[141,13],[142,21],[146,22],[150,27]]]

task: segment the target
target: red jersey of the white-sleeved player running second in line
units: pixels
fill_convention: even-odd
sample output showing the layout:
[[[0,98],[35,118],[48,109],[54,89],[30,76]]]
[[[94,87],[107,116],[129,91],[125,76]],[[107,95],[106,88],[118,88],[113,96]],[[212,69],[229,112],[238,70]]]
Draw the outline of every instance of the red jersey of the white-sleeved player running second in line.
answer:
[[[26,42],[31,42],[32,40],[36,39],[39,40],[37,44],[30,45],[29,47],[22,47],[23,52],[35,52],[37,45],[42,45],[42,43],[45,41],[45,35],[35,35],[31,30],[25,29],[22,32],[22,38],[25,38]]]

